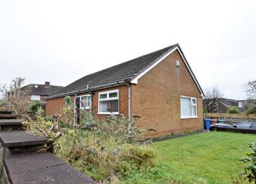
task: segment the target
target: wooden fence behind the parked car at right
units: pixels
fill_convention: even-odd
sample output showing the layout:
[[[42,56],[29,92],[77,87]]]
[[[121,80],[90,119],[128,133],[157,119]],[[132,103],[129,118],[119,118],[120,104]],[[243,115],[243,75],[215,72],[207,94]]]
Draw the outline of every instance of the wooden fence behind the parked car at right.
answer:
[[[216,121],[224,120],[225,123],[240,123],[242,121],[256,122],[256,114],[204,113],[203,118],[210,118]]]

